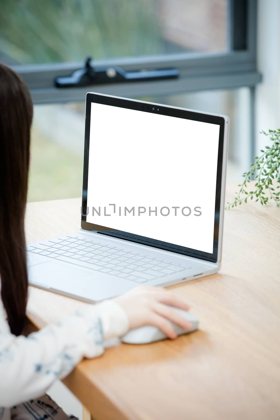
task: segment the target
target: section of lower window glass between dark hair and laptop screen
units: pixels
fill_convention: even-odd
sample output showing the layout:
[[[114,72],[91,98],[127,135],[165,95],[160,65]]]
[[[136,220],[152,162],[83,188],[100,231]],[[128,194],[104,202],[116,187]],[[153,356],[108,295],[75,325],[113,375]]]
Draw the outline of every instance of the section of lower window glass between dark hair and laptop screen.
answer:
[[[35,105],[28,201],[81,197],[84,103]]]

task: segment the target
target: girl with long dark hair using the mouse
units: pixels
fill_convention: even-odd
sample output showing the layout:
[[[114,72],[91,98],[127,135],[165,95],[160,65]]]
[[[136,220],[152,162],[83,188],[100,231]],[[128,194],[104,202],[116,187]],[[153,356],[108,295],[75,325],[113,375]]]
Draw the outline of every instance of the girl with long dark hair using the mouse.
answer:
[[[28,278],[24,213],[29,170],[33,106],[21,78],[0,64],[0,420],[64,419],[68,416],[45,395],[83,357],[98,357],[103,342],[131,328],[152,324],[169,338],[169,320],[190,328],[172,308],[188,305],[170,291],[136,288],[21,335]]]

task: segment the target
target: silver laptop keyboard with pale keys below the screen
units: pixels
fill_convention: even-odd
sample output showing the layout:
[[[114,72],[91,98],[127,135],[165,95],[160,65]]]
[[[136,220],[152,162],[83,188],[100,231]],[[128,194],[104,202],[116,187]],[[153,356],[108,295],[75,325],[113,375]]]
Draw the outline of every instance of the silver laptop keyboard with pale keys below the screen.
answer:
[[[161,255],[153,257],[141,249],[128,251],[115,243],[104,244],[89,235],[69,235],[27,246],[27,250],[101,273],[126,278],[137,283],[154,280],[191,268],[179,262],[168,263]]]

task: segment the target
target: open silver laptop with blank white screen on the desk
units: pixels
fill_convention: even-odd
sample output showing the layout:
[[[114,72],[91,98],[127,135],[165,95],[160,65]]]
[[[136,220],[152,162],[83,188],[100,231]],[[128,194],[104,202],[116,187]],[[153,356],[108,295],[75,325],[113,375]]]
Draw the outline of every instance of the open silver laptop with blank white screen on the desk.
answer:
[[[217,273],[228,131],[225,115],[88,93],[81,230],[28,245],[29,283],[98,302]]]

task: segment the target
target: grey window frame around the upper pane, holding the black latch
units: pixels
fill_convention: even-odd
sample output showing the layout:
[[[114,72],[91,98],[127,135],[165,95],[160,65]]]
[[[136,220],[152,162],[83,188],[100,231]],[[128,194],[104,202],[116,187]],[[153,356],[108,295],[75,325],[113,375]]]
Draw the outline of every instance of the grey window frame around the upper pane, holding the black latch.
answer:
[[[262,79],[256,67],[256,0],[228,0],[228,52],[182,53],[94,61],[94,67],[120,66],[126,71],[140,68],[175,67],[178,79],[98,84],[82,88],[56,88],[54,79],[72,74],[84,63],[13,66],[30,89],[34,104],[84,101],[87,92],[121,97],[175,95],[209,89],[254,88]],[[244,49],[245,47],[245,49]]]

